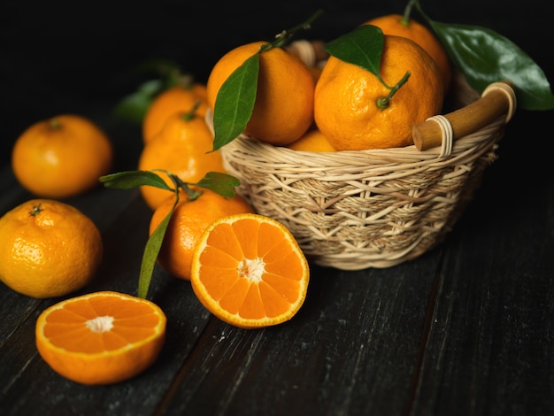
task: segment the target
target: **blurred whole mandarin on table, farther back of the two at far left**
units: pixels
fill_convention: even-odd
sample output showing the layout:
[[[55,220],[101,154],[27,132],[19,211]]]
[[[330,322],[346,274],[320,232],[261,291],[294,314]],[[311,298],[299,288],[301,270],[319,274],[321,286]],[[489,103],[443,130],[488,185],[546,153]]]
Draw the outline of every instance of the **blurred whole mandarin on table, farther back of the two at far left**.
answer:
[[[38,121],[19,135],[12,169],[35,196],[65,198],[98,186],[112,158],[112,143],[95,123],[63,114]]]

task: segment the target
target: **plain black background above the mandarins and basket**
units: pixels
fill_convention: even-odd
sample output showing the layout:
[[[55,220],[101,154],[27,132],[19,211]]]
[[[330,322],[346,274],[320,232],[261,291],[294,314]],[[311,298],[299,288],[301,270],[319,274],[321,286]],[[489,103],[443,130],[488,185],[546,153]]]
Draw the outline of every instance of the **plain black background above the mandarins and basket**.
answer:
[[[94,118],[89,112],[95,105],[109,114],[122,96],[148,78],[136,73],[135,67],[150,58],[172,59],[198,81],[205,81],[227,50],[244,42],[271,40],[318,9],[323,15],[303,37],[330,41],[366,19],[402,13],[406,3],[4,1],[0,5],[0,163],[9,163],[13,142],[35,121],[62,112]],[[551,15],[542,0],[421,0],[420,4],[432,19],[496,30],[535,59],[549,80],[554,79]],[[414,12],[412,17],[419,16]],[[519,112],[514,128],[548,128],[549,114]]]

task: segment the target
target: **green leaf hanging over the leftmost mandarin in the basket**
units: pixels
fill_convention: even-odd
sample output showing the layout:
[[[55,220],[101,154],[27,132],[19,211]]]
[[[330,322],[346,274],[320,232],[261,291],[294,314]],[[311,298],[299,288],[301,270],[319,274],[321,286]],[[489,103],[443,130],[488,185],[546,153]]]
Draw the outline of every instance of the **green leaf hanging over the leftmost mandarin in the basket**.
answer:
[[[254,110],[258,90],[259,52],[246,59],[221,85],[213,109],[213,150],[240,135]]]

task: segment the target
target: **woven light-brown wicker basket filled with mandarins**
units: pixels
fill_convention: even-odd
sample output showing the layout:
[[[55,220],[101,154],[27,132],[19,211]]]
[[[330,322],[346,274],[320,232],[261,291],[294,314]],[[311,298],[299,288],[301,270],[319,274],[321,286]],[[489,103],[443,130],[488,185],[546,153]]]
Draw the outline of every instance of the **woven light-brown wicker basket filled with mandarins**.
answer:
[[[493,90],[503,96],[494,109],[482,102]],[[508,84],[495,83],[480,98],[461,76],[450,100],[457,110],[414,127],[438,130],[440,144],[429,149],[418,137],[419,146],[316,153],[241,135],[221,154],[227,172],[241,181],[238,193],[289,227],[315,264],[395,266],[442,242],[495,160],[515,109]],[[468,115],[477,119],[465,123]]]

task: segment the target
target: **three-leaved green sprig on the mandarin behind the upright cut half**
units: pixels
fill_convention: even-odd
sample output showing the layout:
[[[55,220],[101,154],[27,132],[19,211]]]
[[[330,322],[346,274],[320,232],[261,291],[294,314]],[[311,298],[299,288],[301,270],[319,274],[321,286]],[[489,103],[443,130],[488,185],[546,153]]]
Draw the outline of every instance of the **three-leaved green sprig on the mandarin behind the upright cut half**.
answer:
[[[165,173],[169,176],[173,187],[168,185],[156,172]],[[125,171],[101,176],[99,180],[104,183],[105,188],[112,189],[134,189],[141,186],[151,186],[159,189],[171,190],[174,193],[175,201],[171,210],[165,215],[158,227],[152,232],[142,254],[141,271],[139,274],[138,296],[146,298],[152,273],[158,258],[159,250],[164,242],[165,230],[171,220],[173,211],[179,204],[181,189],[185,192],[189,201],[194,201],[202,196],[202,190],[196,188],[211,189],[221,196],[232,198],[235,196],[235,187],[240,185],[240,181],[227,173],[208,172],[200,181],[190,183],[182,181],[179,176],[162,169],[152,171]],[[194,189],[193,189],[194,188]]]

